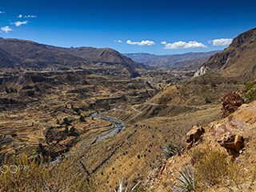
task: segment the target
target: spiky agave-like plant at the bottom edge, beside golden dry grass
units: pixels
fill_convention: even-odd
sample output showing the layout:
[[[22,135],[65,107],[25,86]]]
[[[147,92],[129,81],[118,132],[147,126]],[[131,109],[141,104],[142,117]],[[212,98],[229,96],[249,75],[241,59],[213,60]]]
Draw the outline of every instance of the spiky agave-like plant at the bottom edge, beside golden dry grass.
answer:
[[[178,171],[180,176],[177,178],[180,181],[178,186],[178,191],[181,192],[190,192],[194,191],[196,188],[196,183],[194,181],[194,172],[187,167],[184,170]]]

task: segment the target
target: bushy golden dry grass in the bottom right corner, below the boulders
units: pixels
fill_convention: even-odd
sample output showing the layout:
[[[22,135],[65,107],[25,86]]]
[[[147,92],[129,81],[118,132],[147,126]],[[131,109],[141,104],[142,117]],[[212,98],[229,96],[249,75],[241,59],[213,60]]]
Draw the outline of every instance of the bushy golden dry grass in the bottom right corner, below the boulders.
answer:
[[[198,191],[210,190],[213,187],[226,188],[229,191],[251,191],[255,184],[256,167],[252,167],[252,173],[247,174],[242,165],[227,158],[221,150],[208,147],[194,151],[192,163]]]

